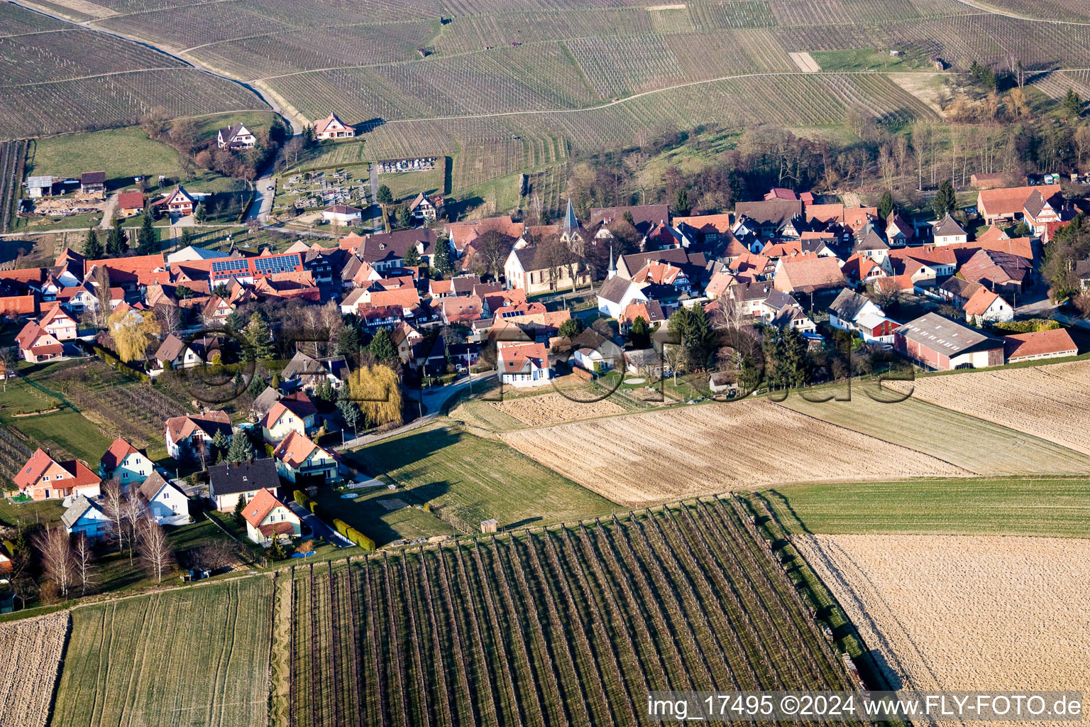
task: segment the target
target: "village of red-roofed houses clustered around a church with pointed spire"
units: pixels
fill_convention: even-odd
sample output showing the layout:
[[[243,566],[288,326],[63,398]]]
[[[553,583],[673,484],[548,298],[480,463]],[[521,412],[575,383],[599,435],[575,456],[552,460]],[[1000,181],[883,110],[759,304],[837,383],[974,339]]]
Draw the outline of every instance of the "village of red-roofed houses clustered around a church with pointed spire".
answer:
[[[352,131],[338,124],[330,114],[316,132]],[[217,143],[244,149],[253,140],[237,124]],[[1086,334],[1049,315],[1040,267],[1050,241],[1081,223],[1086,201],[1065,198],[1058,179],[1012,187],[980,174],[973,184],[976,206],[958,210],[973,226],[953,204],[909,221],[896,208],[777,187],[705,215],[657,204],[581,218],[569,199],[562,219],[536,226],[448,220],[443,196],[421,193],[401,229],[361,233],[348,196],[319,191],[332,203],[327,220],[348,232],[279,252],[174,240],[142,254],[143,237],[131,249],[114,232],[104,247],[92,232],[52,266],[0,270],[0,311],[17,330],[5,379],[97,356],[149,385],[181,378],[197,413],[162,422],[172,467],[121,436],[97,465],[38,448],[7,496],[62,501],[64,530],[92,542],[116,537],[126,518],[134,542],[138,529],[159,542],[155,533],[191,522],[193,508],[229,514],[240,535],[278,556],[313,538],[373,549],[312,498],[382,486],[340,450],[361,424],[423,416],[425,387],[493,378],[500,392],[525,395],[576,380],[608,392],[627,377],[668,391],[667,403],[697,403],[880,371],[1078,355]],[[27,182],[35,199],[73,185],[119,218],[159,208],[173,223],[201,205],[182,184],[157,198],[111,196],[102,172]],[[1090,260],[1076,275],[1090,286]],[[716,342],[727,330],[741,340]],[[403,391],[420,390],[399,395],[401,411],[385,420],[362,415],[370,397],[353,383],[378,367]],[[207,393],[209,378],[220,379],[215,396],[195,393]]]

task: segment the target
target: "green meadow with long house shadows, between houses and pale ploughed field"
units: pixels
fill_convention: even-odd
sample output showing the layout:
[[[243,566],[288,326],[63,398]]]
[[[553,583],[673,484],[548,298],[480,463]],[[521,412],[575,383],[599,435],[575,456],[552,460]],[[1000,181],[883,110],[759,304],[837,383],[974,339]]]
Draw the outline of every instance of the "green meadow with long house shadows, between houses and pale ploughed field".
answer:
[[[350,458],[367,473],[387,475],[398,485],[397,492],[386,492],[387,497],[409,505],[445,506],[473,528],[492,518],[502,526],[548,524],[593,518],[614,508],[604,497],[507,445],[457,427],[436,426],[383,439]]]

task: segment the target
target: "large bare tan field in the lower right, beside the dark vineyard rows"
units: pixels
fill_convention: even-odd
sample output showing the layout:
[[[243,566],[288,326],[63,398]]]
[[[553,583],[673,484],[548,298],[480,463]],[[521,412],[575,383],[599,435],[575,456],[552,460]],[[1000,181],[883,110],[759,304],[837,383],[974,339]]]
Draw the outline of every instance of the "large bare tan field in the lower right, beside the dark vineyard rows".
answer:
[[[1090,689],[1088,540],[796,535],[792,543],[904,689]]]

